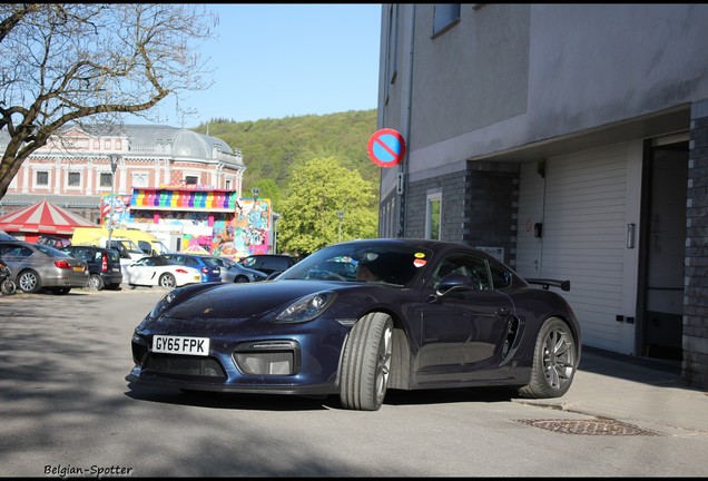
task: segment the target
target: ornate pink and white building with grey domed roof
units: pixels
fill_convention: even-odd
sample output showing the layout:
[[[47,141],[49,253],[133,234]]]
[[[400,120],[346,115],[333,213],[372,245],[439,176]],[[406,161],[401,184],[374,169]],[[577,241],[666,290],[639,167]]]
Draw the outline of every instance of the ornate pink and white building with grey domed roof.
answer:
[[[0,132],[0,150],[7,143],[7,132]],[[245,170],[240,150],[191,130],[156,125],[100,131],[73,127],[22,164],[0,199],[0,215],[46,199],[99,225],[101,196],[111,192],[130,195],[134,188],[185,184],[233,190],[240,197]]]

